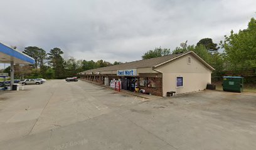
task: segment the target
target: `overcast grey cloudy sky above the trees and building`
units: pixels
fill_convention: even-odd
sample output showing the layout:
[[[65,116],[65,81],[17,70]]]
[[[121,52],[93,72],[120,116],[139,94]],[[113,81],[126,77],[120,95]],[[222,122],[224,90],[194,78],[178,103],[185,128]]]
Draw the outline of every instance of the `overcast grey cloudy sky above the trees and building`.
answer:
[[[65,58],[135,61],[155,47],[219,42],[256,17],[255,0],[1,0],[0,42]]]

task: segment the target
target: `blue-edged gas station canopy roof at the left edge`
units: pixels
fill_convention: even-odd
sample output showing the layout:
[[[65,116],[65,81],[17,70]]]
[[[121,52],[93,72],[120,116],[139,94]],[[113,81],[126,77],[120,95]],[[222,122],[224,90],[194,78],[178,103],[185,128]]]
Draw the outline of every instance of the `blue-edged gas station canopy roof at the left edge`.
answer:
[[[0,63],[35,64],[35,59],[0,42]]]

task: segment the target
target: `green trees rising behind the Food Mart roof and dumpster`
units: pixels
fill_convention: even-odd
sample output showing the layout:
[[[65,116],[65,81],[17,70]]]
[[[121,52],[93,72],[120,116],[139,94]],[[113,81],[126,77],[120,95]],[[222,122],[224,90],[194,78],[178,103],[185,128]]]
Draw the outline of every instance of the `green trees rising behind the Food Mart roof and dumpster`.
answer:
[[[256,20],[250,19],[247,29],[237,33],[232,30],[229,36],[224,37],[218,44],[211,38],[201,39],[196,45],[183,43],[183,47],[176,47],[172,52],[170,49],[156,47],[147,51],[142,59],[194,51],[215,68],[213,81],[220,81],[225,75],[242,75],[245,76],[245,82],[256,84]]]

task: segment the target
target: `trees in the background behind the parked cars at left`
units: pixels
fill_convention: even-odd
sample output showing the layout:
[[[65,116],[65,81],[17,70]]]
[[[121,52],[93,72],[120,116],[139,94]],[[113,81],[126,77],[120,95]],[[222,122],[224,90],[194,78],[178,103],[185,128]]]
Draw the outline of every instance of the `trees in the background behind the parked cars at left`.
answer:
[[[121,64],[115,61],[113,64],[108,61],[86,61],[76,60],[73,57],[63,58],[64,52],[55,47],[50,53],[37,46],[28,46],[24,48],[24,54],[35,59],[33,65],[14,65],[14,76],[16,79],[23,78],[45,78],[45,79],[64,79],[67,77],[77,76],[77,73],[88,69],[102,68]],[[4,69],[4,73],[10,73],[10,67]]]

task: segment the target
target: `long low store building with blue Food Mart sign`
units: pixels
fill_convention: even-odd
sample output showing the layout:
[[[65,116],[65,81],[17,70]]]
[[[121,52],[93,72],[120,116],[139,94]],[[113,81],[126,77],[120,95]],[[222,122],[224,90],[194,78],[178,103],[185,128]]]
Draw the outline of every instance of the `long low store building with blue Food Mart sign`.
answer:
[[[206,89],[213,70],[196,53],[189,51],[90,69],[80,73],[80,78],[107,86],[119,80],[122,89],[134,91],[138,86],[146,93],[166,96],[169,91],[183,94]]]

